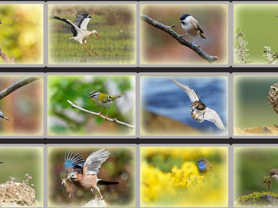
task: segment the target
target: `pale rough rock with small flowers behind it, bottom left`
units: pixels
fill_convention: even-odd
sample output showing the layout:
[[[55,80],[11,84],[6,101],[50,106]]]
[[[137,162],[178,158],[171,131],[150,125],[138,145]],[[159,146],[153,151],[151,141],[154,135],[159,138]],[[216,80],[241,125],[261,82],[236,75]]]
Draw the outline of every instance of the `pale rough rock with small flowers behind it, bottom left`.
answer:
[[[0,184],[0,206],[17,207],[29,206],[40,207],[35,198],[35,190],[25,183],[8,181]]]

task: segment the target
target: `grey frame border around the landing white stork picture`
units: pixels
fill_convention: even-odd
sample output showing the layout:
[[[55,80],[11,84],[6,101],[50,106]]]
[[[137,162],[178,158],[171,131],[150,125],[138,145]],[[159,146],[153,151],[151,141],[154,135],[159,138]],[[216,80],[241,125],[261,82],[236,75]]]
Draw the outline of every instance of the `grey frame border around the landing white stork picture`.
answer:
[[[138,41],[138,36],[140,37],[140,35],[137,34],[138,32],[138,18],[136,18],[136,64],[49,64],[48,63],[48,5],[49,4],[135,4],[136,5],[136,15],[138,13],[138,5],[139,2],[136,1],[70,1],[70,2],[63,2],[63,1],[48,1],[46,2],[46,6],[45,6],[45,13],[44,13],[44,22],[45,22],[45,27],[47,29],[44,30],[44,35],[45,37],[47,37],[47,39],[45,39],[46,42],[46,66],[51,68],[51,67],[138,67],[139,66],[139,62],[138,62],[138,50],[139,50],[139,41]]]

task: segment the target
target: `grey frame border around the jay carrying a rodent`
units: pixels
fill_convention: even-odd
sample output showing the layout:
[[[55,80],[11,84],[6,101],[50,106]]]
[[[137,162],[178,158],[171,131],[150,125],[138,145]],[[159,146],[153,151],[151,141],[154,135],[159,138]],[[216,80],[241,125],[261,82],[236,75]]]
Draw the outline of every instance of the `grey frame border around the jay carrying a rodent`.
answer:
[[[44,207],[48,207],[48,178],[47,178],[47,159],[48,159],[48,147],[135,147],[135,206],[140,207],[140,198],[137,198],[139,193],[140,196],[140,187],[137,186],[137,182],[140,180],[140,149],[137,144],[47,144],[44,147]],[[139,160],[139,163],[137,162]],[[52,206],[51,206],[52,207]],[[133,208],[133,207],[130,207]]]

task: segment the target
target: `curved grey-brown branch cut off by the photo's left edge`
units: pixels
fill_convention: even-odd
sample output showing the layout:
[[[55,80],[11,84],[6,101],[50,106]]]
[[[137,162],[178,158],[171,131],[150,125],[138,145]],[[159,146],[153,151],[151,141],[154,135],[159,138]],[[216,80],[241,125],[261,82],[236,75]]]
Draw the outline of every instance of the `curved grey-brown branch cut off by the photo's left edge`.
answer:
[[[21,88],[26,84],[29,84],[33,81],[40,80],[40,79],[43,79],[43,75],[31,75],[22,80],[15,82],[14,84],[10,85],[6,89],[4,89],[2,92],[0,92],[0,100],[2,100],[4,97],[6,97],[10,93],[14,92],[15,90],[17,90],[18,88]]]

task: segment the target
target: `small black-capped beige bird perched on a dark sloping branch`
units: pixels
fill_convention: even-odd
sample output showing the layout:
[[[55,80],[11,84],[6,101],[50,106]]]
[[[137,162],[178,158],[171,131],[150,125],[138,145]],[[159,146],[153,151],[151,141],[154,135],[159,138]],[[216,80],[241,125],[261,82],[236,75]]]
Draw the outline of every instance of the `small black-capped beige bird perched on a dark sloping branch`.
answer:
[[[181,26],[183,28],[183,30],[186,32],[186,34],[184,35],[190,35],[192,37],[194,37],[194,41],[192,43],[192,47],[195,44],[195,37],[199,34],[201,36],[201,38],[203,39],[207,39],[203,34],[204,31],[201,28],[199,22],[192,17],[190,14],[183,14],[180,17],[180,21]],[[179,38],[183,37],[183,35],[180,35]]]

